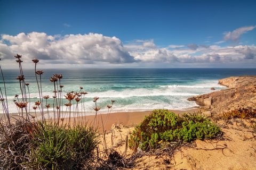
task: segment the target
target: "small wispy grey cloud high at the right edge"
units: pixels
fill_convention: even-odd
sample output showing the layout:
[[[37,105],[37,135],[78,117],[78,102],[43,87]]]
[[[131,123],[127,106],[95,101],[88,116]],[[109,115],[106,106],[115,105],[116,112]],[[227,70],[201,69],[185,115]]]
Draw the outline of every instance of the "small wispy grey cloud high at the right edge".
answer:
[[[232,32],[225,32],[224,33],[224,40],[225,41],[234,41],[234,42],[238,42],[239,38],[241,37],[241,35],[243,35],[244,33],[246,33],[247,31],[251,31],[255,28],[256,26],[250,26],[250,27],[241,27],[238,29],[235,29]]]

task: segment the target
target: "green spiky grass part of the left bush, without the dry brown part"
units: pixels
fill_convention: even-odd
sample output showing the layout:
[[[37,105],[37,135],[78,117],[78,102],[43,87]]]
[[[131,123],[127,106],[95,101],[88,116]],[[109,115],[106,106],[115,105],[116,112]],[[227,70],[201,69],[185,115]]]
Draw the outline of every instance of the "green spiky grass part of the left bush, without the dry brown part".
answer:
[[[67,128],[39,122],[37,132],[31,155],[36,169],[81,169],[93,159],[98,145],[97,133],[86,126]]]

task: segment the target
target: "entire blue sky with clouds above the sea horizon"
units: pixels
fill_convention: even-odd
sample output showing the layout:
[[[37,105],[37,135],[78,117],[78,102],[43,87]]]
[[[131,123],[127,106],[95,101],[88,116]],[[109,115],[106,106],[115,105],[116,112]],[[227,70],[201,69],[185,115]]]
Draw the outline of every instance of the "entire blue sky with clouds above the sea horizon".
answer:
[[[0,0],[0,65],[256,68],[256,1]]]

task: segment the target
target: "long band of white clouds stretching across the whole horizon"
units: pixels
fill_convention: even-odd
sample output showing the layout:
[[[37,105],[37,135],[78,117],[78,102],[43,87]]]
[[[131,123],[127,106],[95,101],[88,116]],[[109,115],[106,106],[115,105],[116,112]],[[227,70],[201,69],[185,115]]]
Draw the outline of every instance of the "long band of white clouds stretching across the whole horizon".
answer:
[[[184,48],[182,48],[184,47]],[[74,66],[101,64],[111,66],[139,66],[147,63],[170,64],[256,64],[256,46],[227,46],[190,44],[170,45],[159,48],[154,40],[136,40],[123,45],[116,37],[107,37],[97,33],[85,35],[53,35],[43,32],[19,33],[16,36],[2,35],[0,40],[1,61],[14,62],[15,54],[21,54],[24,61],[37,57],[40,64]],[[25,63],[25,62],[24,62]],[[105,64],[104,64],[105,63]],[[6,64],[6,65],[7,65]],[[175,66],[175,65],[174,65]]]

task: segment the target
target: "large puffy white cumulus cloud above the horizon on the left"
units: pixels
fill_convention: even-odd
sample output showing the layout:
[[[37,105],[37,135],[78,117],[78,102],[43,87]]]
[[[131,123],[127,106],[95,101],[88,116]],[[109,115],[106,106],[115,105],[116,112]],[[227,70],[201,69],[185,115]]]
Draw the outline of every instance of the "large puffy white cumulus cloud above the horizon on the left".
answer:
[[[87,35],[47,36],[44,32],[19,33],[17,36],[2,35],[1,56],[10,58],[16,53],[25,58],[54,60],[57,63],[131,63],[137,62],[116,37],[97,33]]]

